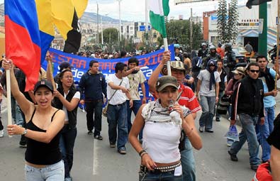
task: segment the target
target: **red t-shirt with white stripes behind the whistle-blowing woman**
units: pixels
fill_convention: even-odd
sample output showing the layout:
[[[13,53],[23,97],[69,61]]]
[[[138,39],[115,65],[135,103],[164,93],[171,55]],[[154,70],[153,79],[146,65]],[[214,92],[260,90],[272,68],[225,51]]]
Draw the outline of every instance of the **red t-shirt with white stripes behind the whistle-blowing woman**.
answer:
[[[196,96],[194,95],[194,92],[191,88],[184,86],[184,84],[180,84],[179,92],[181,91],[181,97],[178,101],[181,106],[186,106],[189,108],[191,113],[201,110],[201,106],[199,106],[198,100],[196,99]]]

